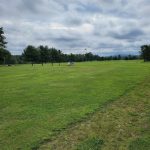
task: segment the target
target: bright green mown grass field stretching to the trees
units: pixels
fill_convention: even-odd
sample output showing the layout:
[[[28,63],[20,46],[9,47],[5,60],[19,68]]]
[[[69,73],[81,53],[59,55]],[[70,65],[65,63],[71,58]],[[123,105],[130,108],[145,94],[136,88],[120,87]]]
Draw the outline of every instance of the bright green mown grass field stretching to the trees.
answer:
[[[142,61],[0,67],[0,148],[39,147],[149,74]]]

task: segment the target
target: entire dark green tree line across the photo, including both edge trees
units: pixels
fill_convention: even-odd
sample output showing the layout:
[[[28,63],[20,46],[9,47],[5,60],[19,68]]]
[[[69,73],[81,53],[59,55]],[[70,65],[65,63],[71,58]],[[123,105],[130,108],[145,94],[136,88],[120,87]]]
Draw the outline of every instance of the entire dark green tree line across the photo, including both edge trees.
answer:
[[[0,28],[0,64],[24,64],[31,63],[60,63],[61,62],[83,62],[83,61],[105,61],[105,60],[135,60],[144,59],[150,61],[150,45],[141,46],[140,55],[127,56],[99,56],[91,52],[86,54],[64,54],[56,48],[40,45],[35,47],[28,45],[21,55],[11,55],[6,49],[7,42],[5,41],[3,28]]]

